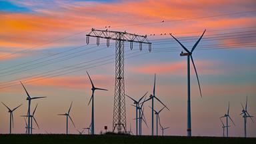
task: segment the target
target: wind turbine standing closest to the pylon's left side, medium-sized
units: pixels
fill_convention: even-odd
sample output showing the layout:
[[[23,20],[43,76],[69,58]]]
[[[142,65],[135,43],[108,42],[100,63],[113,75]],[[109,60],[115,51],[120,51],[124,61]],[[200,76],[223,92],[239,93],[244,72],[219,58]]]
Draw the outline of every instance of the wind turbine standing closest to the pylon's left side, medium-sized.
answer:
[[[86,71],[90,81],[91,81],[91,77],[89,75],[89,73]],[[98,87],[95,87],[93,85],[93,81],[91,81],[91,91],[92,91],[92,95],[91,95],[91,99],[88,103],[88,105],[91,103],[91,135],[94,135],[94,91],[95,90],[103,90],[103,91],[107,91],[107,89],[101,89]]]

